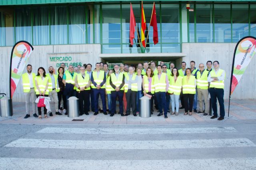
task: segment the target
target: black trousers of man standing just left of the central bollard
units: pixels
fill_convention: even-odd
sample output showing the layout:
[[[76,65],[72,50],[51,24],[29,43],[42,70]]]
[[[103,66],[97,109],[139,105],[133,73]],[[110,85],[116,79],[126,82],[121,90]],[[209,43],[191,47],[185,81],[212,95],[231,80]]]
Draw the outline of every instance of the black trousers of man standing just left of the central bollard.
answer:
[[[127,101],[126,114],[131,113],[131,107],[132,114],[136,114],[137,91],[132,91],[131,89],[128,89],[128,91],[125,93],[125,96]]]

